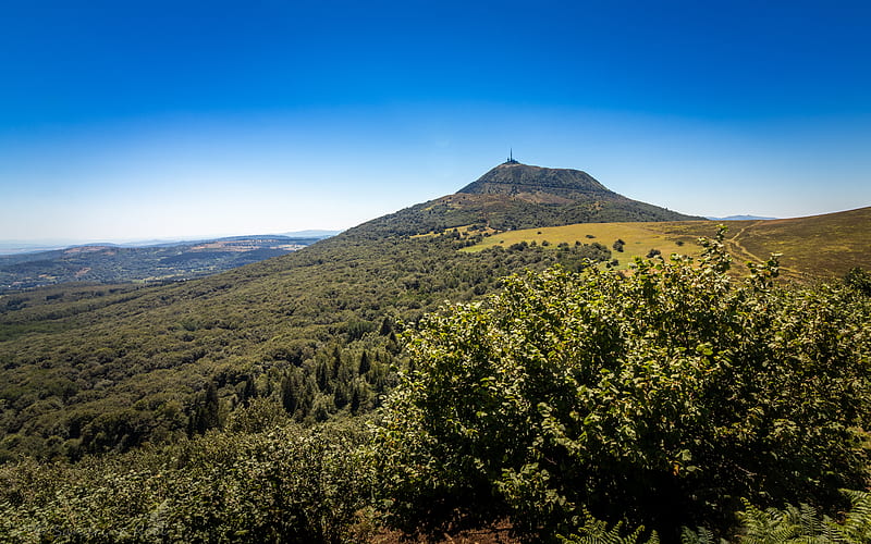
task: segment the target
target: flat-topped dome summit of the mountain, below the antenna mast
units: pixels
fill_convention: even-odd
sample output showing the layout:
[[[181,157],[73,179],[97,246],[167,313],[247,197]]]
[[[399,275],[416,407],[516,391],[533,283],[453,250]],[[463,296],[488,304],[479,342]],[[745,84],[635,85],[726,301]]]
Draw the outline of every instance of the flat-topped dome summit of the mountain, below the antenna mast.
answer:
[[[578,198],[619,197],[580,170],[549,169],[520,162],[504,162],[457,193],[470,195],[508,195],[523,200],[541,201],[560,197]]]

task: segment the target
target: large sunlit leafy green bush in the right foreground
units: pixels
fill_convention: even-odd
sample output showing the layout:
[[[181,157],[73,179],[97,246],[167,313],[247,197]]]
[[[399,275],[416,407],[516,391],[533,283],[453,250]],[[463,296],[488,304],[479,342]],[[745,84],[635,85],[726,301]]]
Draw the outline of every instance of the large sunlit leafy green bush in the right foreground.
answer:
[[[510,516],[547,539],[586,507],[668,541],[734,527],[739,497],[830,511],[863,487],[869,299],[776,288],[774,259],[736,281],[721,240],[425,319],[377,431],[390,521]]]

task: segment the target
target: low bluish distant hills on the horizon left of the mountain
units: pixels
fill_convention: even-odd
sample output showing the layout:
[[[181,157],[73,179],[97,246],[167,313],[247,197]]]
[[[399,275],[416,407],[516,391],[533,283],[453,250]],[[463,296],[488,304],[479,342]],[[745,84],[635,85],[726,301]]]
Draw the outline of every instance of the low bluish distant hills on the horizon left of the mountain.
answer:
[[[0,293],[66,282],[167,282],[279,257],[326,236],[233,236],[126,247],[89,244],[0,256]]]

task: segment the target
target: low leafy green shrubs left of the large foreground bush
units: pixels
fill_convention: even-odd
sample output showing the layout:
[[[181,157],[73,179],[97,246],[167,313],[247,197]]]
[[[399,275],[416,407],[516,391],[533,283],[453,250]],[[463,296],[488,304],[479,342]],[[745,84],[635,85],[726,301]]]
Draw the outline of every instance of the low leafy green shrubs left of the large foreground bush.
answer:
[[[371,480],[358,431],[277,428],[0,468],[2,542],[354,542]]]

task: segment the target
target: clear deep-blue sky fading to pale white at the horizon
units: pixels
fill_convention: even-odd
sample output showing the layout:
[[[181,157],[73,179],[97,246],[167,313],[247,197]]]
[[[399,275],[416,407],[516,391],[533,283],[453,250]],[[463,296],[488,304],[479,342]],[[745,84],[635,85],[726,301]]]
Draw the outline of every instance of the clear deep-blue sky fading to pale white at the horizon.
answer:
[[[341,230],[510,148],[686,213],[871,206],[871,2],[0,1],[0,239]]]

